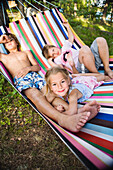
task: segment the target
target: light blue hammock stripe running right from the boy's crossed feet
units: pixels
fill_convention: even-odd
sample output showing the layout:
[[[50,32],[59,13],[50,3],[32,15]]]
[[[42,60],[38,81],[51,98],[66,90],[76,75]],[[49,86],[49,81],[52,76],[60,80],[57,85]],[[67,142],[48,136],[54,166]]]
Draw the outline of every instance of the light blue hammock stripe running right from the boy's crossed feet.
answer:
[[[91,124],[91,123],[86,123],[84,128],[90,129],[90,130],[93,130],[93,131],[97,131],[97,132],[100,132],[100,133],[103,133],[103,134],[106,134],[106,135],[113,136],[113,129],[106,128],[106,127],[103,127],[103,126],[94,125],[94,124]]]

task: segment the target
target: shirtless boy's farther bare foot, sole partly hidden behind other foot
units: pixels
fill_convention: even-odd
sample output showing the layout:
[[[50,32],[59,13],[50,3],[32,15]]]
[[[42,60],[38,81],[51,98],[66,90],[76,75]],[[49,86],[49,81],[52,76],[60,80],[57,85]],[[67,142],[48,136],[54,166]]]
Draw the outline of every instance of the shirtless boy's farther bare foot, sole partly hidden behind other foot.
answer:
[[[93,100],[89,103],[86,103],[82,108],[80,108],[78,110],[78,113],[81,113],[81,112],[90,112],[90,116],[88,118],[88,120],[91,120],[92,118],[94,118],[97,113],[100,111],[100,104],[96,102],[96,100]]]

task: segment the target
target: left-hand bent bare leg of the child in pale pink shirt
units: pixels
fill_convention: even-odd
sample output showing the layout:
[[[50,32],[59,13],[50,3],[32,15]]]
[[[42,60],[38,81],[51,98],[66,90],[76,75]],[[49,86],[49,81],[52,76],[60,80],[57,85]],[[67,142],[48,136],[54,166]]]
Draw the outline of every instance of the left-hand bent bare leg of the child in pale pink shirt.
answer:
[[[83,63],[84,66],[92,73],[99,73],[95,66],[95,58],[91,49],[88,46],[83,46],[79,51],[79,62]]]

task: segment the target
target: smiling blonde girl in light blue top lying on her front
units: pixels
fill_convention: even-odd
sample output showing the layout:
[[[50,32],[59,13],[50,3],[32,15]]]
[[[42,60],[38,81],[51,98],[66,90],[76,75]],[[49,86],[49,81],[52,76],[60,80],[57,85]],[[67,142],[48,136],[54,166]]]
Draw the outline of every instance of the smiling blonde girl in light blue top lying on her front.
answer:
[[[69,106],[67,108],[66,105],[61,105],[61,107],[66,107],[66,114],[73,115],[77,114],[77,103],[84,102],[91,97],[94,88],[109,80],[109,77],[102,74],[87,73],[86,76],[79,75],[70,79],[69,72],[65,68],[55,66],[46,72],[45,80],[47,100],[51,102],[52,97],[62,98],[69,103]]]

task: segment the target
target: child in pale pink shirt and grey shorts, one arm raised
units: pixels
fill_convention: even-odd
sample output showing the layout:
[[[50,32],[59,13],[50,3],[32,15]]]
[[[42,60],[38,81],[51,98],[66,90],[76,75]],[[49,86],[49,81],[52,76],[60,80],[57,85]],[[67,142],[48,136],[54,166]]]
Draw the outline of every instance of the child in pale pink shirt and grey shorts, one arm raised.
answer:
[[[67,22],[64,22],[63,25],[67,28],[69,39],[64,42],[62,48],[46,44],[42,49],[42,54],[50,66],[63,66],[73,74],[99,73],[98,69],[102,61],[105,74],[113,78],[113,71],[109,68],[109,51],[106,40],[98,37],[90,48],[84,45],[80,50],[73,49],[74,35]]]

